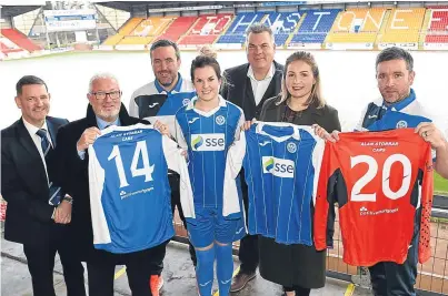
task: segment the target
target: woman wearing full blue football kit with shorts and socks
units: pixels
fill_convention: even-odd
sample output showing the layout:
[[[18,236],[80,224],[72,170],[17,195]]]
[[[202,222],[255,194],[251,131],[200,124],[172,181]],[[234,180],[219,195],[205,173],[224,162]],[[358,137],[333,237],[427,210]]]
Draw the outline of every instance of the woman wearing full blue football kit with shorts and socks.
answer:
[[[216,258],[219,294],[226,296],[233,272],[232,242],[246,234],[236,181],[225,182],[229,149],[239,135],[243,113],[219,95],[221,70],[213,58],[197,57],[191,63],[191,80],[197,96],[177,112],[175,135],[188,151],[193,187],[195,216],[186,216],[187,229],[198,257],[199,294],[211,296]],[[226,195],[225,202],[228,182],[233,182],[235,194]]]

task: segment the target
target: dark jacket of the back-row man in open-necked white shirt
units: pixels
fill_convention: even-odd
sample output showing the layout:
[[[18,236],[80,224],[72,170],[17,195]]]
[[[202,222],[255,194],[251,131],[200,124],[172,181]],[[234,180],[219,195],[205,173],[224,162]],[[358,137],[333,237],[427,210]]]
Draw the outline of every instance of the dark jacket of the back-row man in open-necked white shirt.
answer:
[[[253,118],[258,119],[265,101],[280,93],[283,65],[277,63],[276,61],[273,61],[273,64],[276,68],[276,73],[273,74],[272,80],[258,105],[256,105],[253,98],[250,78],[247,76],[249,63],[227,69],[223,72],[223,76],[227,80],[227,85],[222,88],[221,95],[223,99],[241,108],[245,112],[246,120],[252,120]]]

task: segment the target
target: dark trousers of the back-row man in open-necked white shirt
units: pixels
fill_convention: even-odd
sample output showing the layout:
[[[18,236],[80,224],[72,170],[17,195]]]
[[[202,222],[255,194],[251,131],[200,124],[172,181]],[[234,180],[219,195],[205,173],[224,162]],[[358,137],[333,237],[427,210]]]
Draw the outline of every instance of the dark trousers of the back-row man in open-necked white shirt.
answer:
[[[242,201],[245,203],[245,212],[246,212],[246,224],[248,224],[249,196],[243,170],[241,170],[240,177],[241,177]],[[241,263],[240,272],[246,274],[255,273],[259,263],[258,235],[248,234],[241,238],[238,257]]]

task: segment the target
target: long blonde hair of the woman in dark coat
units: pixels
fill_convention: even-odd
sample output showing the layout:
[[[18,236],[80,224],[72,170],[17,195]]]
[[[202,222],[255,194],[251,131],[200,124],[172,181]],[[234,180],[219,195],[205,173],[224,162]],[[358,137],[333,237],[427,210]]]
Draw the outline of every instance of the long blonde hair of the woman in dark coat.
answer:
[[[286,100],[288,100],[291,96],[291,94],[288,91],[288,88],[286,86],[286,75],[288,73],[289,64],[295,61],[303,61],[307,64],[309,64],[309,67],[311,67],[312,75],[316,80],[316,83],[315,83],[315,85],[312,85],[311,93],[310,93],[306,104],[307,105],[317,104],[317,108],[323,108],[326,102],[325,102],[325,100],[322,98],[322,93],[321,93],[319,68],[316,63],[315,57],[312,57],[311,53],[306,52],[306,51],[296,51],[295,53],[289,55],[288,59],[286,60],[285,72],[283,72],[283,75],[281,79],[281,93],[280,93],[281,99],[279,102],[277,102],[277,104],[281,104],[282,102],[285,102]]]

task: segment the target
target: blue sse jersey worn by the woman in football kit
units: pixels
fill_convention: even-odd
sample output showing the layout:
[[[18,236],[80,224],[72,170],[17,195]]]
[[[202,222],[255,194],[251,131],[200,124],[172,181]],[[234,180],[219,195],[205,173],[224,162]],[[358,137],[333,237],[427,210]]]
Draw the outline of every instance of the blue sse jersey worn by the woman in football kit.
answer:
[[[240,108],[220,98],[210,112],[195,109],[197,99],[176,114],[176,137],[188,150],[195,206],[222,207],[227,152],[243,123]]]

